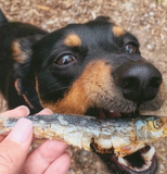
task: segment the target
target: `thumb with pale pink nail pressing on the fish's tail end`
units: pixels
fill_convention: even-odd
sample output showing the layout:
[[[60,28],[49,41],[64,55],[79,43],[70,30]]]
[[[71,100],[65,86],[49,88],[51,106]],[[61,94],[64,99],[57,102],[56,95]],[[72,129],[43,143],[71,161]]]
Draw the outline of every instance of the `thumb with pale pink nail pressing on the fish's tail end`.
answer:
[[[33,123],[21,119],[0,144],[0,173],[15,174],[22,167],[33,138]]]

